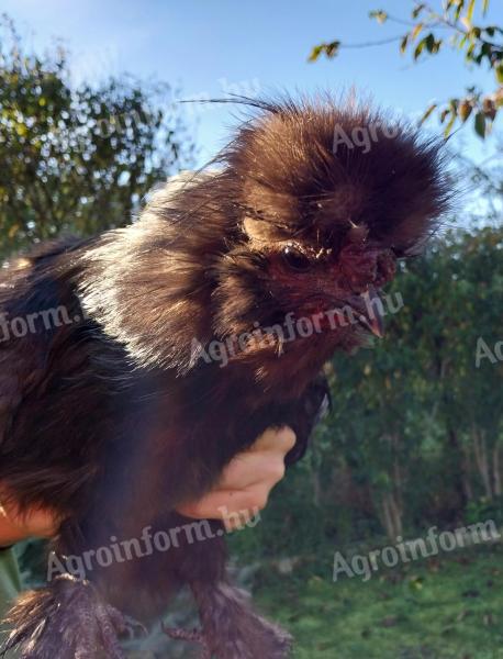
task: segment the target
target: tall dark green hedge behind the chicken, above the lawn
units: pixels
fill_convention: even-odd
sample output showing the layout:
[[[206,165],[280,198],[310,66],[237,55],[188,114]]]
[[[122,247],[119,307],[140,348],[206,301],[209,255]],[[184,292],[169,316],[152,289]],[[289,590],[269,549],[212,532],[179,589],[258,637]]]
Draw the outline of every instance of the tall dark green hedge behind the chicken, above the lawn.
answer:
[[[403,299],[387,337],[334,358],[333,413],[249,534],[255,557],[449,526],[480,498],[500,518],[502,272],[501,227],[448,233],[402,267],[387,291],[389,310]],[[477,360],[480,339],[492,358]]]

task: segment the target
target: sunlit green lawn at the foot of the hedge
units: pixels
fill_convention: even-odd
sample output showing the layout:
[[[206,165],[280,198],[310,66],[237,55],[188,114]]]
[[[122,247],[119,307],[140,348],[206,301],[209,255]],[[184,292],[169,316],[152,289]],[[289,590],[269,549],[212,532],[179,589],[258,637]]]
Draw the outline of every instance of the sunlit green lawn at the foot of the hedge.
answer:
[[[261,608],[295,637],[295,659],[503,659],[501,546],[332,580],[332,565],[261,574]]]

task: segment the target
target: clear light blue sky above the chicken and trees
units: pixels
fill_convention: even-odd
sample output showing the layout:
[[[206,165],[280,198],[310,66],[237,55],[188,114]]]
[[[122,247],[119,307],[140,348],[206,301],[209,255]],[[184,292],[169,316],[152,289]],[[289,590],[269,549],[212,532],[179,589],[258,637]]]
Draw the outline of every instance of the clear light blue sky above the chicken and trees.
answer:
[[[439,5],[439,0],[432,0]],[[71,53],[76,82],[98,82],[131,72],[172,85],[179,98],[222,98],[275,90],[342,91],[356,87],[375,101],[410,118],[433,100],[459,96],[466,86],[493,87],[489,71],[468,70],[462,57],[446,52],[417,65],[396,43],[348,48],[335,60],[308,63],[311,48],[340,38],[358,44],[403,34],[400,24],[378,25],[371,9],[407,19],[409,0],[0,0],[34,48],[62,38]],[[500,19],[492,0],[492,18]],[[500,15],[498,16],[498,13]],[[491,18],[491,16],[490,16]],[[197,165],[216,154],[235,123],[228,105],[183,105],[198,145]],[[436,121],[431,130],[440,132]],[[470,129],[456,145],[478,160],[490,154]]]

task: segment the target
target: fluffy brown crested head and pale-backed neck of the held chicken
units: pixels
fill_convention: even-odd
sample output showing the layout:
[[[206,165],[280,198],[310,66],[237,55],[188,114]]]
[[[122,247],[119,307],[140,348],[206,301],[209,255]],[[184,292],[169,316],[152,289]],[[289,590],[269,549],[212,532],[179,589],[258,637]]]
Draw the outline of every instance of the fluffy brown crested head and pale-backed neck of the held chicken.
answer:
[[[447,208],[440,146],[415,129],[328,98],[253,104],[216,174],[166,186],[136,224],[85,255],[85,305],[141,365],[187,371],[194,338],[208,346],[288,313],[358,306]],[[233,361],[284,378],[306,350],[317,368],[365,328],[288,347],[256,340]]]

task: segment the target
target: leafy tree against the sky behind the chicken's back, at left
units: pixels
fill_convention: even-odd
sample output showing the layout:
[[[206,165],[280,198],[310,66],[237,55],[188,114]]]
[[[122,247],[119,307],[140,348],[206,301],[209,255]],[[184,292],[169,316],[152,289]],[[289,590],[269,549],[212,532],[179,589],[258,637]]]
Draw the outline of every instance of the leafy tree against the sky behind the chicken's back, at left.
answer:
[[[155,103],[169,91],[130,77],[72,88],[67,53],[26,53],[3,16],[0,258],[130,222],[153,185],[190,161],[179,119]]]

